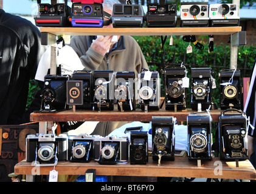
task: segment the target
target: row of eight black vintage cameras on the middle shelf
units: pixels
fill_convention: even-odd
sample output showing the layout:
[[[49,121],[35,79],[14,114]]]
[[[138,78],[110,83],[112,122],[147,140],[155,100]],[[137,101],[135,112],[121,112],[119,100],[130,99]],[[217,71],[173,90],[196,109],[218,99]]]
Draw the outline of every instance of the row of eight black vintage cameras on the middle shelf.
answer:
[[[221,70],[221,110],[243,107],[243,86],[240,70]],[[190,87],[192,110],[217,109],[212,102],[216,87],[210,68],[192,68],[191,80],[187,78],[184,65],[164,70],[165,109],[186,109],[187,88]],[[134,72],[112,70],[81,70],[69,75],[46,75],[41,90],[42,106],[39,113],[69,109],[120,111],[159,110],[161,105],[161,78],[159,72],[142,70],[138,78]],[[191,84],[189,83],[191,82]]]

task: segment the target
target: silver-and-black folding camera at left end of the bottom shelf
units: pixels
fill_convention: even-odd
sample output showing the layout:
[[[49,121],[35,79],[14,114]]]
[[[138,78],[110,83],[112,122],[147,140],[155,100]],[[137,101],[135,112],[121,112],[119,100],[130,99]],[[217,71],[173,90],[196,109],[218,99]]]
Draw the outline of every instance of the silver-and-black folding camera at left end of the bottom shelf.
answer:
[[[26,160],[40,166],[55,166],[58,161],[67,161],[67,135],[28,135]]]

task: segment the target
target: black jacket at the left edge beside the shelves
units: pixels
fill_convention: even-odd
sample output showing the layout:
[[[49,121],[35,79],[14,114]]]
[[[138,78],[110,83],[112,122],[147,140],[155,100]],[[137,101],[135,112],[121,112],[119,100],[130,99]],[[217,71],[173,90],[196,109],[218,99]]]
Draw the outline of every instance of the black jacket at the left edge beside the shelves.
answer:
[[[41,33],[0,8],[0,124],[21,124],[30,78],[40,60]]]

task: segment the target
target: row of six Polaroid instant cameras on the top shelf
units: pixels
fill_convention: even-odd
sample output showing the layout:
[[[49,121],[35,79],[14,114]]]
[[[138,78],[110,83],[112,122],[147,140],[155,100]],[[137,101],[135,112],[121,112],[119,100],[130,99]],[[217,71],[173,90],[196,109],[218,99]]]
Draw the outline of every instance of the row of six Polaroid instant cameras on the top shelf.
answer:
[[[103,12],[103,0],[72,0],[72,8],[64,4],[39,4],[37,26],[66,27],[176,27],[177,2],[147,4],[147,13],[139,4],[114,4],[112,15]],[[240,17],[237,4],[210,4],[208,1],[181,0],[181,27],[238,26]],[[107,18],[108,20],[104,20]]]

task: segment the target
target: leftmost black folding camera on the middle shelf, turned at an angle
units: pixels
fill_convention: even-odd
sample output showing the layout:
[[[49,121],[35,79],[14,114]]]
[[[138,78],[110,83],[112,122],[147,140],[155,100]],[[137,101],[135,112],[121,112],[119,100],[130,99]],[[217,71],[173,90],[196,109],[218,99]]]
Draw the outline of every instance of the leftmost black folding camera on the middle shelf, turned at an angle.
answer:
[[[66,82],[68,75],[44,76],[44,87],[40,96],[41,110],[35,112],[57,112],[66,109]]]

